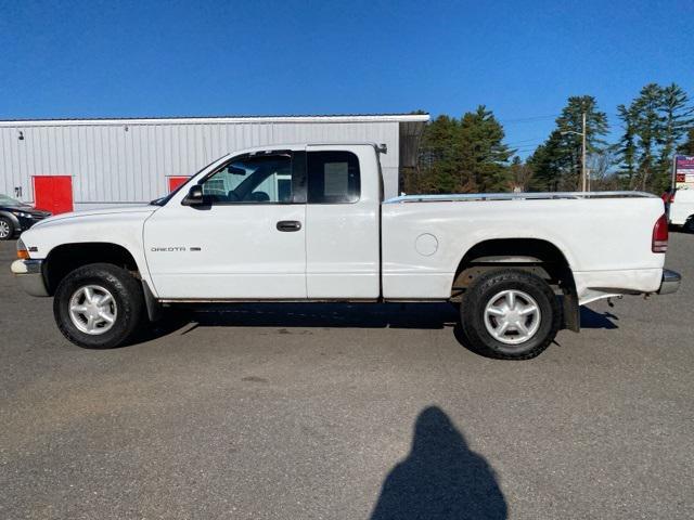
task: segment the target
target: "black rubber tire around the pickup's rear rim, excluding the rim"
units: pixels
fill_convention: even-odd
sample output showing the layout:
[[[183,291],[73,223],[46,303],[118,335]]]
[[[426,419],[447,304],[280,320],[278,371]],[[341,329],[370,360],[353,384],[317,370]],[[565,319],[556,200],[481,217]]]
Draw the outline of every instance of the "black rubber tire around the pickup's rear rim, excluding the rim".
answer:
[[[485,318],[487,304],[496,300],[502,291],[511,290],[528,295],[539,308],[537,314],[539,325],[536,332],[527,340],[516,344],[502,342],[492,336]],[[518,318],[517,315],[515,318]],[[529,320],[536,320],[536,317],[530,316]],[[550,285],[535,274],[517,269],[491,271],[481,275],[467,288],[461,304],[461,327],[465,339],[470,341],[473,350],[489,358],[504,360],[535,358],[552,342],[561,323],[562,308]],[[493,327],[493,324],[491,326]],[[512,337],[502,337],[514,340]]]

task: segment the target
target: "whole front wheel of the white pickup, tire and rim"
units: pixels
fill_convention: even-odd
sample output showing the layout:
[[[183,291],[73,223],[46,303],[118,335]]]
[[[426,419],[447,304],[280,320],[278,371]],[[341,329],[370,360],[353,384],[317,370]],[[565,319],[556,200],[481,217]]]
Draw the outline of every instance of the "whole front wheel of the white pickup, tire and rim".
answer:
[[[144,312],[140,283],[125,269],[92,263],[57,286],[53,314],[63,336],[79,347],[110,349],[125,343]]]

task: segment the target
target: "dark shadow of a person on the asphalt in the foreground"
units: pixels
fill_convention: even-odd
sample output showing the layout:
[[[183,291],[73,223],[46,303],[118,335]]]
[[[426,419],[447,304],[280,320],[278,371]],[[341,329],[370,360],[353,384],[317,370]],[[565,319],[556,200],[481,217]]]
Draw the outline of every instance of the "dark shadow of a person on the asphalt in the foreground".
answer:
[[[388,473],[371,520],[506,517],[506,500],[486,459],[470,450],[441,408],[422,411],[412,450]]]

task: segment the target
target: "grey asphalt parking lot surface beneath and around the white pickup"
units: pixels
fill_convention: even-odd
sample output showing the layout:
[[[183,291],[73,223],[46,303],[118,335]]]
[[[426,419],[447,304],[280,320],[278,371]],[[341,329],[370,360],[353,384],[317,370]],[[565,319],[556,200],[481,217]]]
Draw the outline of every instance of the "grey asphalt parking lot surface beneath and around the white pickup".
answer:
[[[85,350],[0,243],[0,518],[694,518],[694,235],[674,295],[525,362],[448,304],[254,304]],[[185,317],[185,316],[183,316]]]

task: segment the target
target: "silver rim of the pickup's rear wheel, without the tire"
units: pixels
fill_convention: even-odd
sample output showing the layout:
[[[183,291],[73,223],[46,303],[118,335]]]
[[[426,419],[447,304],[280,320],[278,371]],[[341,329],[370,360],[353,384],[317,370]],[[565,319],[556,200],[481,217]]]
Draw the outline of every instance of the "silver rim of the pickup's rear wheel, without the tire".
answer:
[[[535,299],[522,290],[502,290],[492,296],[485,307],[485,326],[498,341],[520,344],[540,328],[542,314]]]

